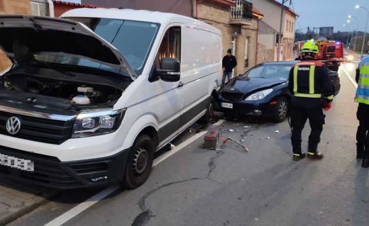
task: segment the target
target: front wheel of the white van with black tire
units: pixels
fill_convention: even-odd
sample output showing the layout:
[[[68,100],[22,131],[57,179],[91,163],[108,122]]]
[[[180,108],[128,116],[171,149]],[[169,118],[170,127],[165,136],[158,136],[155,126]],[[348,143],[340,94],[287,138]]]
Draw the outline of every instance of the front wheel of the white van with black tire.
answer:
[[[139,135],[128,154],[122,185],[126,189],[135,189],[145,183],[149,177],[154,160],[154,142],[146,134]]]

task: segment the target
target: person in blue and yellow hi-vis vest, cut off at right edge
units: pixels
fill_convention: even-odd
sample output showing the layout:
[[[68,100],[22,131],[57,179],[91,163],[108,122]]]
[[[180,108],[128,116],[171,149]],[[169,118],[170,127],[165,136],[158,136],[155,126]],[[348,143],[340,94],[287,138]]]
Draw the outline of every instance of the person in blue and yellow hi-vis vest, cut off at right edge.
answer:
[[[361,166],[369,167],[369,57],[361,60],[356,70],[357,82],[355,101],[359,103],[356,118],[359,126],[356,131],[356,158],[363,159]]]

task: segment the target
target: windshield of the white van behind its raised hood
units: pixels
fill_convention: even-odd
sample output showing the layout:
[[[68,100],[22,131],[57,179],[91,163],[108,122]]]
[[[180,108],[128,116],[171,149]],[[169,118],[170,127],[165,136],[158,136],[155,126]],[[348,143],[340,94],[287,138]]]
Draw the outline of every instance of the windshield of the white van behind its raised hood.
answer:
[[[110,42],[131,64],[137,76],[142,73],[160,27],[158,23],[144,21],[80,17],[66,19],[83,23],[105,41]],[[84,66],[96,67],[96,65],[85,64],[84,62]],[[102,67],[104,66],[99,66],[104,69]]]

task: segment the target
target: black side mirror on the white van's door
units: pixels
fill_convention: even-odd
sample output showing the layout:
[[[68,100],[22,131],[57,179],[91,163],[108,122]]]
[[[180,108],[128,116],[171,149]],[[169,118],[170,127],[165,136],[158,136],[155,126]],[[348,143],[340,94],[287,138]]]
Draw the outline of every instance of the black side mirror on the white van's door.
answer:
[[[156,69],[156,74],[164,82],[177,82],[180,79],[180,62],[175,58],[165,57],[161,60],[160,68]]]

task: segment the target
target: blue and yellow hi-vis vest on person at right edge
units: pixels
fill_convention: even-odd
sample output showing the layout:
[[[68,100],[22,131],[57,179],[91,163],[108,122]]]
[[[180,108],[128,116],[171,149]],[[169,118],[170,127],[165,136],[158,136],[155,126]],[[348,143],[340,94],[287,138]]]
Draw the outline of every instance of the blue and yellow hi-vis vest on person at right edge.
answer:
[[[355,101],[358,103],[369,104],[369,57],[363,59],[360,68],[356,71],[356,96]]]

